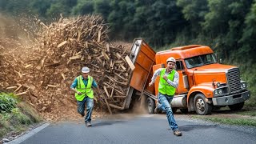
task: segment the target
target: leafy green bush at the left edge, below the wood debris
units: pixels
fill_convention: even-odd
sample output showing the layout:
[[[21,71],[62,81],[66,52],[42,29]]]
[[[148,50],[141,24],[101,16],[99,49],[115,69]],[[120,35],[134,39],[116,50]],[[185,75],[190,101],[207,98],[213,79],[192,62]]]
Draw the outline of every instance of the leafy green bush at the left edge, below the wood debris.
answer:
[[[17,101],[10,94],[0,94],[0,113],[10,113],[16,107]]]

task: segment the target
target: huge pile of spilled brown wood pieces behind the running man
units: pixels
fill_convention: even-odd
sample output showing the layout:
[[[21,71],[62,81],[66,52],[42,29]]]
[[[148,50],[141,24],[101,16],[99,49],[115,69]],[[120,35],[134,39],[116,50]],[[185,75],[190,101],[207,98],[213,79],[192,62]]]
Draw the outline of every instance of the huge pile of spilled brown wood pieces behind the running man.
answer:
[[[63,110],[76,113],[70,85],[82,67],[88,66],[100,88],[99,93],[94,90],[96,106],[110,113],[110,106],[122,106],[134,69],[128,57],[130,47],[109,42],[109,26],[100,16],[60,18],[49,26],[38,24],[42,32],[34,39],[37,44],[26,48],[30,54],[16,56],[9,51],[0,55],[0,68],[6,70],[1,73],[2,88],[13,90],[46,118],[58,119]]]

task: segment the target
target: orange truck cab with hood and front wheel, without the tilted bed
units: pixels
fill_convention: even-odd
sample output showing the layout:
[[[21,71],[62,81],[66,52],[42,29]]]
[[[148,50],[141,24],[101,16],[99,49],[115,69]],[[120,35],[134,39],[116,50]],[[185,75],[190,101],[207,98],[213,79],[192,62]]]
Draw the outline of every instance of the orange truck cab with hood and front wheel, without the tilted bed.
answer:
[[[250,98],[250,90],[241,81],[238,67],[219,64],[209,46],[180,46],[160,51],[155,55],[152,70],[166,67],[166,59],[170,57],[176,59],[175,69],[179,74],[179,85],[171,102],[174,110],[196,111],[201,115],[221,106],[240,110]],[[156,97],[158,82],[159,78],[154,83]]]

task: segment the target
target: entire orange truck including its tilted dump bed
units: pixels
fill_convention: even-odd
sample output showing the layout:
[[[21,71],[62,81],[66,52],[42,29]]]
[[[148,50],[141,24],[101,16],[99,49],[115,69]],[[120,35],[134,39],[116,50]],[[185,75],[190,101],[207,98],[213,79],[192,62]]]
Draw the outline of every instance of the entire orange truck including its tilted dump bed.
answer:
[[[138,38],[134,39],[130,54],[135,69],[121,109],[129,108],[133,99],[142,99],[149,113],[154,113],[159,78],[154,86],[148,84],[154,71],[166,67],[166,59],[170,57],[176,59],[179,74],[179,85],[171,102],[173,111],[179,109],[182,113],[195,111],[206,115],[222,106],[241,110],[250,98],[250,90],[241,80],[238,67],[218,63],[209,46],[180,46],[155,53],[142,38]]]

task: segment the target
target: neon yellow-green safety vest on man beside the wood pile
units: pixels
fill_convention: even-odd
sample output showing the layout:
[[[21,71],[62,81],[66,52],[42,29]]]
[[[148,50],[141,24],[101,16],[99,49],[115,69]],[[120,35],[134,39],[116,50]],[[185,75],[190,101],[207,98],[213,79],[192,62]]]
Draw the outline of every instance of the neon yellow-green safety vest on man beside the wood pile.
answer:
[[[79,95],[79,94],[75,93],[74,94],[75,98],[78,101],[82,101],[83,98],[85,98],[86,96],[88,96],[89,98],[94,98],[94,91],[91,89],[91,86],[93,83],[93,77],[88,75],[87,86],[85,86],[84,82],[82,81],[82,75],[79,75],[77,77],[77,80],[78,80],[78,86],[76,87],[76,90],[78,90],[82,94]]]

